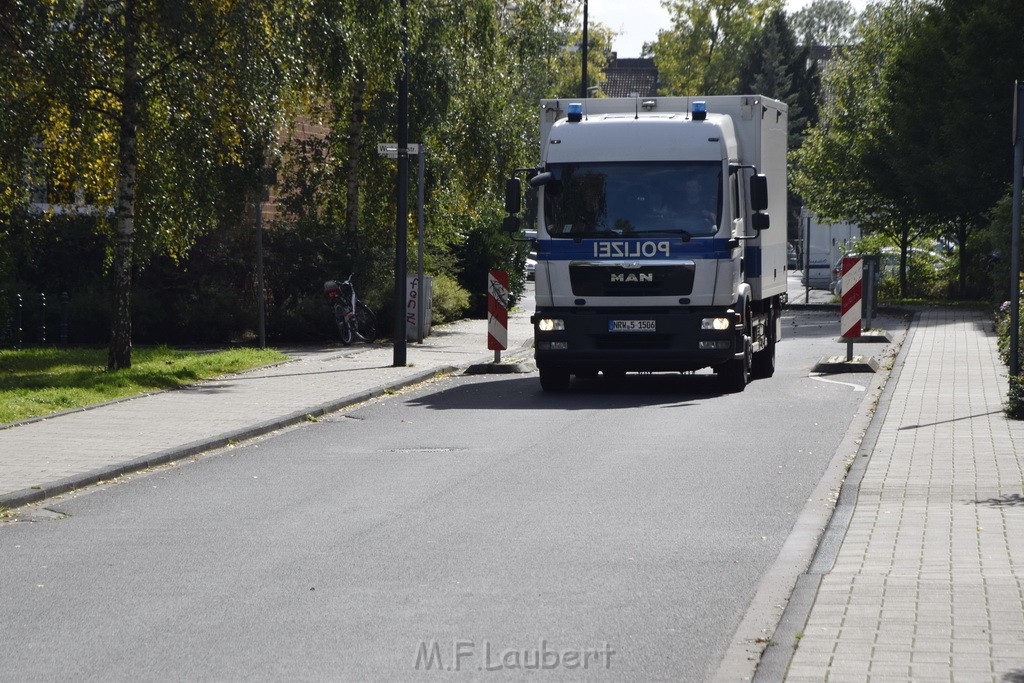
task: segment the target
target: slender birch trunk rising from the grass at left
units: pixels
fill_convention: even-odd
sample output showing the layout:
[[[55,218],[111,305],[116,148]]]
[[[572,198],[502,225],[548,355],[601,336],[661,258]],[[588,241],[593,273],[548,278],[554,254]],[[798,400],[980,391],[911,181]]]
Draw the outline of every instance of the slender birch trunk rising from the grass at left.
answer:
[[[138,16],[135,2],[125,3],[124,87],[121,92],[121,121],[118,130],[118,198],[114,211],[114,306],[111,346],[106,356],[110,371],[131,368],[131,271],[132,240],[135,230],[135,174],[138,169],[138,112],[142,83],[138,76]]]

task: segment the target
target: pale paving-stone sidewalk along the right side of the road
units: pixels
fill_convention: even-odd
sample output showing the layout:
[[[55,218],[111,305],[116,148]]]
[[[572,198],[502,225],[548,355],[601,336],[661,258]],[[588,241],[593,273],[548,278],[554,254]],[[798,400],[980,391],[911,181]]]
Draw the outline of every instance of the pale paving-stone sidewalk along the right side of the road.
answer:
[[[1024,681],[1024,423],[987,316],[920,313],[787,681]]]

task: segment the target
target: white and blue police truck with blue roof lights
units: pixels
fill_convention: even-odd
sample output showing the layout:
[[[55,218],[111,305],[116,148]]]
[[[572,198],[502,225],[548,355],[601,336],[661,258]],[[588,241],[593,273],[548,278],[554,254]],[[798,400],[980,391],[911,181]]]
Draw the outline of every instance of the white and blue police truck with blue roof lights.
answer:
[[[786,124],[761,95],[541,102],[535,358],[598,373],[770,377],[785,303]],[[519,229],[519,177],[506,228]],[[773,226],[769,229],[769,226]]]

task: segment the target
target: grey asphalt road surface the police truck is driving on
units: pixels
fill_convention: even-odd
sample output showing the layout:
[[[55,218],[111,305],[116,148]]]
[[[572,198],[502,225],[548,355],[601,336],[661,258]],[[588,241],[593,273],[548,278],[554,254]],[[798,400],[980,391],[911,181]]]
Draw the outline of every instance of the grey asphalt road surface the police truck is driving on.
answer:
[[[740,394],[445,378],[48,503],[0,679],[707,679],[861,405],[834,318]]]

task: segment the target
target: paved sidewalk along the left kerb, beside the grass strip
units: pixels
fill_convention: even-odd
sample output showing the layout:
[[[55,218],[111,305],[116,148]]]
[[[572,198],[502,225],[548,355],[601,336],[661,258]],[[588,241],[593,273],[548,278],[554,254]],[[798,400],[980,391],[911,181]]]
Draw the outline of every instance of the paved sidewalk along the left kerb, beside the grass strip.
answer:
[[[502,358],[531,358],[531,340],[529,312],[510,312]],[[404,368],[392,366],[390,344],[290,351],[293,360],[273,367],[2,429],[0,508],[222,447],[495,358],[485,319],[434,328],[407,351]]]

